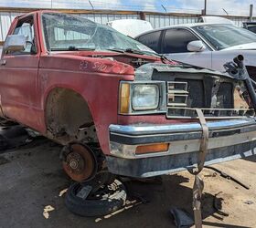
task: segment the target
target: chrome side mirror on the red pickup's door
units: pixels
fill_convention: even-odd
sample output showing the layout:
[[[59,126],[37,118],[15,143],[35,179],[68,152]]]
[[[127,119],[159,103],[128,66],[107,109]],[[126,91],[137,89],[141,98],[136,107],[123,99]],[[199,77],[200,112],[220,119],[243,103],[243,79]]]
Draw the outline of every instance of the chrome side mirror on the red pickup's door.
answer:
[[[3,50],[24,51],[27,44],[27,37],[23,35],[9,35],[5,39]]]

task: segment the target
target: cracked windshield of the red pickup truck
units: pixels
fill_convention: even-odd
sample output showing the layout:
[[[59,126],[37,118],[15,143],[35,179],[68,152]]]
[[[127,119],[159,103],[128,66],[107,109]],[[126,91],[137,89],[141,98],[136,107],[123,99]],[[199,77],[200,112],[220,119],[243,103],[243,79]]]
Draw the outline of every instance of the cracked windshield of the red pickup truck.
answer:
[[[127,50],[155,55],[129,36],[80,16],[44,13],[42,16],[44,36],[49,51],[61,50]]]

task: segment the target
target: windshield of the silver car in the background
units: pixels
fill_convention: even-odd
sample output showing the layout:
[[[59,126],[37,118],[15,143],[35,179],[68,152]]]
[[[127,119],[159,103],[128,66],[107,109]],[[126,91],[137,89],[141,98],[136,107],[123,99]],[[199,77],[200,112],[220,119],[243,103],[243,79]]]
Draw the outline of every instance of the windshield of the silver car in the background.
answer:
[[[256,42],[256,35],[232,25],[202,25],[193,27],[216,50]]]

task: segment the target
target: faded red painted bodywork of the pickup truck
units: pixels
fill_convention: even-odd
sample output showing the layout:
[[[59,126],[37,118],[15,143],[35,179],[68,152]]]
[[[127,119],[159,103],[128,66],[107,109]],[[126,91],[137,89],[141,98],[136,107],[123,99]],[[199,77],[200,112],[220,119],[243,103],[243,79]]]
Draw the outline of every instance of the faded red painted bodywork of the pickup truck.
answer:
[[[14,119],[46,135],[46,102],[53,88],[69,88],[79,93],[91,109],[92,118],[100,140],[101,149],[108,154],[110,124],[133,123],[147,119],[149,122],[165,123],[165,115],[148,117],[118,116],[120,80],[133,80],[134,69],[125,61],[112,61],[101,56],[103,52],[70,51],[48,53],[44,45],[41,14],[34,16],[37,55],[2,56],[5,66],[0,66],[1,116]],[[26,15],[27,16],[27,15]],[[19,18],[10,26],[12,34]],[[4,52],[3,52],[4,53]],[[157,57],[127,54],[160,61]],[[91,57],[93,56],[93,57]],[[99,57],[95,57],[99,56]],[[123,57],[114,53],[112,56]]]

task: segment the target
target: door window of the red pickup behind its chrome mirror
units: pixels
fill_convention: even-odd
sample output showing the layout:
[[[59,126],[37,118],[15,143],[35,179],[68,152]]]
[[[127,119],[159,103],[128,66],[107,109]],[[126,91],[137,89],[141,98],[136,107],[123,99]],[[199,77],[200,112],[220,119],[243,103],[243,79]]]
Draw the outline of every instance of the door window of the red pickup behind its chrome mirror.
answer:
[[[27,37],[27,44],[24,51],[13,52],[15,55],[27,55],[36,53],[35,31],[33,16],[18,21],[13,35],[23,35]],[[10,53],[8,53],[10,54]]]

